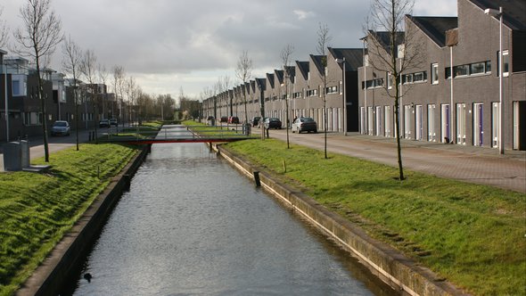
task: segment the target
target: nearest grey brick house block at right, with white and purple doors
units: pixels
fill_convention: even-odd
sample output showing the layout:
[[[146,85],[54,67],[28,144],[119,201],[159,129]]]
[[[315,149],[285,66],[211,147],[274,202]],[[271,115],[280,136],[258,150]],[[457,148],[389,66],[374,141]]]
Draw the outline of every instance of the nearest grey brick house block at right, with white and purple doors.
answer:
[[[499,22],[484,13],[504,9],[503,118],[499,107]],[[407,16],[420,62],[399,81],[400,136],[431,142],[526,150],[526,3],[458,0],[458,17]],[[375,37],[373,34],[370,38]],[[373,46],[375,42],[367,42]],[[369,57],[370,58],[370,57]],[[374,64],[374,61],[371,63]],[[453,79],[450,73],[453,72]],[[386,72],[358,70],[360,131],[395,136],[394,100]],[[380,79],[380,80],[379,80]]]

